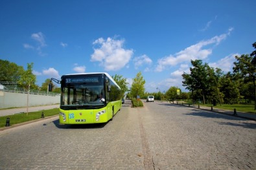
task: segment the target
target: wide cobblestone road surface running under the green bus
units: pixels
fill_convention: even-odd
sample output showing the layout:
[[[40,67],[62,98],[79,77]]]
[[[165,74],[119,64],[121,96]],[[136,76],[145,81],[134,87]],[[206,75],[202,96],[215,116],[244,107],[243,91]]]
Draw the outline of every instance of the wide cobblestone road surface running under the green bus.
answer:
[[[256,169],[256,123],[154,102],[103,125],[0,131],[0,169]]]

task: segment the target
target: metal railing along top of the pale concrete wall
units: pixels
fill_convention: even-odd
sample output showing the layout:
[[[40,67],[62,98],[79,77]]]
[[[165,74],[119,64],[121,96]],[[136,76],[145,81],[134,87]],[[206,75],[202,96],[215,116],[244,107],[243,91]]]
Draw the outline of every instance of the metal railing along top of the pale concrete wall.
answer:
[[[28,93],[26,89],[23,89],[21,87],[12,87],[12,86],[3,86],[3,85],[1,85],[0,91],[17,92],[17,93],[25,93],[25,94]],[[60,93],[47,92],[47,91],[35,90],[35,89],[30,89],[29,94],[37,94],[37,95],[45,95],[45,96],[60,96]]]

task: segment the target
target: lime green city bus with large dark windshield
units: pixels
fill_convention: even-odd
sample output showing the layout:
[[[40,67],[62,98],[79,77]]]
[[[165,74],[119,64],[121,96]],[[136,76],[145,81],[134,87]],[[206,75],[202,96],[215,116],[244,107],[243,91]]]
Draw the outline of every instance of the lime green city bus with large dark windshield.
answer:
[[[66,74],[60,83],[62,124],[108,122],[121,109],[121,89],[106,72]]]

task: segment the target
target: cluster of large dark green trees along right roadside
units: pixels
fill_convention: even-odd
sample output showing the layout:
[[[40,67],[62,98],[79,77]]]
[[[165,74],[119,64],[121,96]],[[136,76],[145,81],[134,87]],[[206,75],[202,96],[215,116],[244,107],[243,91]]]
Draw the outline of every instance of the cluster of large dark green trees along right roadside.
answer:
[[[253,43],[256,49],[256,43]],[[233,72],[209,67],[202,60],[191,61],[190,74],[184,72],[183,86],[192,92],[193,100],[216,103],[239,103],[255,100],[256,50],[250,55],[235,56]],[[255,103],[256,109],[256,103]]]

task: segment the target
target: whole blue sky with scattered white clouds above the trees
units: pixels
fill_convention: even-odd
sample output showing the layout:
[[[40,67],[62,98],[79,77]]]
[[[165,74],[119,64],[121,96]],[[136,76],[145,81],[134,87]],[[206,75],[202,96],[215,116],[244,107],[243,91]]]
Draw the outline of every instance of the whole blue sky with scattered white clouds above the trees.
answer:
[[[232,71],[256,41],[256,1],[0,1],[0,59],[34,63],[37,84],[80,72],[182,86],[191,59]]]

